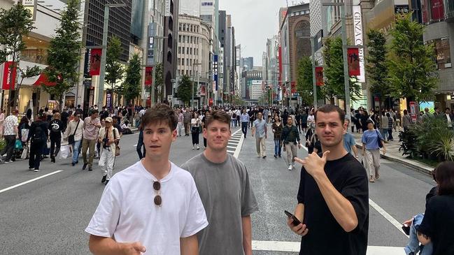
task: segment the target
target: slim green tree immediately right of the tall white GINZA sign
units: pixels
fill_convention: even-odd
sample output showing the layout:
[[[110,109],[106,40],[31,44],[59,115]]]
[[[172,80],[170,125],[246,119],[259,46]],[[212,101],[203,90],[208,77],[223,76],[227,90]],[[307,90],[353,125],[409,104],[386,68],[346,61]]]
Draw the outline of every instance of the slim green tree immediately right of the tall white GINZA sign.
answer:
[[[367,32],[367,55],[366,70],[371,85],[371,92],[380,94],[381,103],[390,93],[390,82],[388,81],[388,66],[386,66],[386,37],[385,33],[371,29]]]

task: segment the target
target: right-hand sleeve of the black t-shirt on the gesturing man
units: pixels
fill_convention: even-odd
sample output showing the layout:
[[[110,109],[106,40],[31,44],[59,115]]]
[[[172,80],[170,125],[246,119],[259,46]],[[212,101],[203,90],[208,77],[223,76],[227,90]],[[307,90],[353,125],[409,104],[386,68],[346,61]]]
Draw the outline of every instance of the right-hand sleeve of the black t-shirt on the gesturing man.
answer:
[[[352,166],[352,168],[362,168],[362,166]],[[358,220],[357,226],[364,226],[364,222],[369,215],[369,187],[367,184],[366,170],[356,169],[341,190],[343,197],[353,205]]]

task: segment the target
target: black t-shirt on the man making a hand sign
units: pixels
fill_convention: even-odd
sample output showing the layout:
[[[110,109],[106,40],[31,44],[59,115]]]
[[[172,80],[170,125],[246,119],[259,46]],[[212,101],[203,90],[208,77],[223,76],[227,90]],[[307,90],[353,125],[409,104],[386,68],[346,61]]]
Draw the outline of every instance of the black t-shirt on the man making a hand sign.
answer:
[[[369,229],[369,187],[366,170],[348,153],[341,159],[327,161],[325,173],[336,190],[353,205],[358,225],[350,233],[343,230],[329,211],[317,183],[303,167],[297,198],[298,203],[304,204],[303,223],[309,231],[302,238],[299,254],[365,255]]]

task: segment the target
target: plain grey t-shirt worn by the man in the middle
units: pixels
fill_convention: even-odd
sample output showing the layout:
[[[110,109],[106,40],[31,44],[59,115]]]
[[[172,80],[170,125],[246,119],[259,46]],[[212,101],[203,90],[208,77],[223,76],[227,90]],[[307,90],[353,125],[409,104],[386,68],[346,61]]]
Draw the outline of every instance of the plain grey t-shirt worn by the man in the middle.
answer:
[[[225,162],[213,163],[201,153],[181,168],[194,177],[208,219],[197,233],[199,254],[243,255],[241,217],[258,210],[246,166],[230,154]]]

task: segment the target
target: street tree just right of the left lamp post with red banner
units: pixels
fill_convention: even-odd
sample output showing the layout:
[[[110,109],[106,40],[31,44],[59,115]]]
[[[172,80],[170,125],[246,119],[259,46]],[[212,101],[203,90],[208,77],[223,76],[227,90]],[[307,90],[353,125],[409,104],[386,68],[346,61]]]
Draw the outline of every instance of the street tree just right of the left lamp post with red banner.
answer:
[[[115,85],[117,84],[118,80],[123,78],[123,73],[125,70],[123,69],[122,64],[120,63],[119,59],[122,54],[123,48],[120,38],[117,36],[112,36],[109,38],[107,43],[107,55],[106,55],[106,82],[111,85],[112,93],[117,94],[117,98],[120,99],[121,93],[117,91]]]

